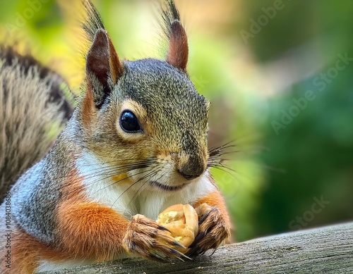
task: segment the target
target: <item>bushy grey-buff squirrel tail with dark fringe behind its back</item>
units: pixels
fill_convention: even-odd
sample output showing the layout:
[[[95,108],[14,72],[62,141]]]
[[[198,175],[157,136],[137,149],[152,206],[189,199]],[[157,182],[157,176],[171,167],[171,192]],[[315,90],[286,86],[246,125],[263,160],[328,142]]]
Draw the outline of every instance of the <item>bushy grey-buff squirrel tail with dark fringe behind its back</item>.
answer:
[[[52,147],[73,101],[62,77],[32,56],[0,46],[0,203]]]

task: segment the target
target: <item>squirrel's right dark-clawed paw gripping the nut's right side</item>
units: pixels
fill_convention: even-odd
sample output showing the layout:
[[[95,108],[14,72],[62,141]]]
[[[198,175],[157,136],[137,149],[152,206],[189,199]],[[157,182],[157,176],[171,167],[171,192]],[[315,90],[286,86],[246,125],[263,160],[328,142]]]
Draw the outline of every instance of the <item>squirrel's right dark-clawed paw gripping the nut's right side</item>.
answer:
[[[230,228],[222,217],[219,208],[201,204],[196,208],[198,213],[198,235],[186,252],[186,256],[205,254],[208,249],[217,249],[225,239],[230,237]]]

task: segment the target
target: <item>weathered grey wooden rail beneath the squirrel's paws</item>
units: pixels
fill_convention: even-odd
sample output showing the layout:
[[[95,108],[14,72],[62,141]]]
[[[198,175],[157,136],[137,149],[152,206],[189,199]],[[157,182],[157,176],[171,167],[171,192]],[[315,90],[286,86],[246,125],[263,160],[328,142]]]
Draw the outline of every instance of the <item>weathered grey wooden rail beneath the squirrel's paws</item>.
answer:
[[[131,258],[49,273],[353,273],[353,223],[229,244],[193,261]]]

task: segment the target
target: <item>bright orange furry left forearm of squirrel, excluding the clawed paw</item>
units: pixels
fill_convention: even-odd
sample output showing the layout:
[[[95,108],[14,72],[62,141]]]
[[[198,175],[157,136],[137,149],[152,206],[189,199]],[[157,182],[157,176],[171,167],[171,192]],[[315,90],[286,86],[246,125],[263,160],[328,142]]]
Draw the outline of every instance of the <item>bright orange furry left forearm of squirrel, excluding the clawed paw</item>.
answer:
[[[112,208],[84,201],[64,201],[57,212],[59,247],[73,257],[114,259],[121,251],[128,220]]]

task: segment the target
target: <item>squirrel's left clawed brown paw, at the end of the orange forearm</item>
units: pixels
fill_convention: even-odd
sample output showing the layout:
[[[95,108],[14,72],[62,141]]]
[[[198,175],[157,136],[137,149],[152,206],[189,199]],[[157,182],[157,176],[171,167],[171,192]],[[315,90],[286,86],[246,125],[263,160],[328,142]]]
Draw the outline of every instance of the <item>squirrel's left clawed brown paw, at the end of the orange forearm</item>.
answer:
[[[189,259],[177,250],[186,250],[186,247],[176,242],[167,228],[140,214],[131,218],[122,244],[126,251],[156,261]]]

